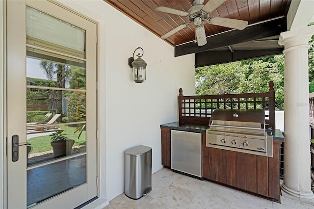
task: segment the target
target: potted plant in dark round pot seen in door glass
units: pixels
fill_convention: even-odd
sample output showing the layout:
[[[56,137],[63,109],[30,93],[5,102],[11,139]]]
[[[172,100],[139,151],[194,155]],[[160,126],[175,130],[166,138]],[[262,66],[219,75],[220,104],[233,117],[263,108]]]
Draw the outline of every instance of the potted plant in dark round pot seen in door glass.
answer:
[[[73,139],[68,139],[64,133],[62,133],[63,130],[57,130],[54,133],[52,133],[51,136],[51,146],[53,149],[53,155],[54,157],[62,157],[62,156],[68,156],[71,154],[72,146],[74,144]]]

